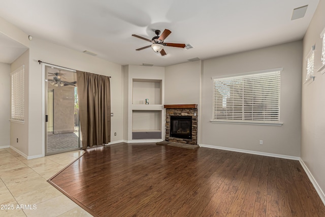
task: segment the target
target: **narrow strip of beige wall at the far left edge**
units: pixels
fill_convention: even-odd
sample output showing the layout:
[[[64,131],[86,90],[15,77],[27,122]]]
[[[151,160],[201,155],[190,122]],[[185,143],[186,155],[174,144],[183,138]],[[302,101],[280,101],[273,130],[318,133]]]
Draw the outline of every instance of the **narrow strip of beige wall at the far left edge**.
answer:
[[[0,63],[0,148],[10,145],[10,65]]]

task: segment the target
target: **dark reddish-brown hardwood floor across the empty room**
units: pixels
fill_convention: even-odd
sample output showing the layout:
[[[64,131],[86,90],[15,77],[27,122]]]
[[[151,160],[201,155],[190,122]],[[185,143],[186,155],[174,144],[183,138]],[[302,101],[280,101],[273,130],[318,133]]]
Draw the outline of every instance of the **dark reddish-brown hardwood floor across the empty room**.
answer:
[[[95,216],[325,216],[298,161],[204,147],[92,148],[49,182]]]

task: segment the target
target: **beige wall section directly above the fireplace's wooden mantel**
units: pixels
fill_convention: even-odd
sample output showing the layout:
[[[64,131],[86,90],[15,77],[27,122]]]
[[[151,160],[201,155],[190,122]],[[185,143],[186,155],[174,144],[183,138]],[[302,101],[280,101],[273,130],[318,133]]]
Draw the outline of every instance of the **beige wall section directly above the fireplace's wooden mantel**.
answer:
[[[165,104],[199,104],[200,79],[200,60],[166,67]]]

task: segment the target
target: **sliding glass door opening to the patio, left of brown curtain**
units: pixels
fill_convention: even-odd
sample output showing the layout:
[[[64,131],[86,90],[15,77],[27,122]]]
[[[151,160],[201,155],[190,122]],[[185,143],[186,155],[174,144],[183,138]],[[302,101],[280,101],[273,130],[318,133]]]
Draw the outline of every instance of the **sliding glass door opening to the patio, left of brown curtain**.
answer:
[[[80,149],[76,72],[45,66],[45,155]]]

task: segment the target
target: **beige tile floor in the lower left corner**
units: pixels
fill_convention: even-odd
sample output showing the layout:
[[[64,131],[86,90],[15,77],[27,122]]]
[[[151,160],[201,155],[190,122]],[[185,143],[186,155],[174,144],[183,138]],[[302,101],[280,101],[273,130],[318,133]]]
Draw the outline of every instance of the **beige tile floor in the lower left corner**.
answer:
[[[82,154],[26,160],[11,148],[0,149],[0,216],[92,216],[47,182]]]

